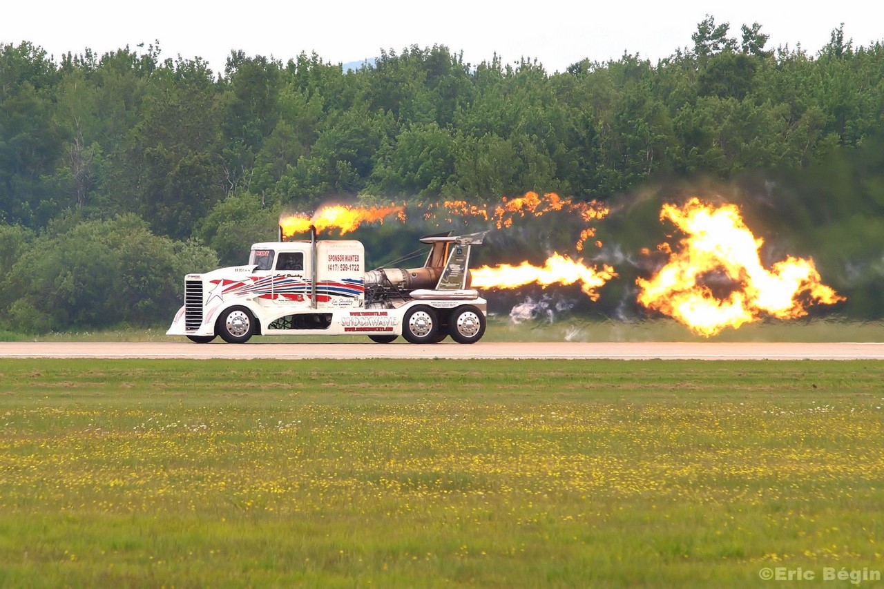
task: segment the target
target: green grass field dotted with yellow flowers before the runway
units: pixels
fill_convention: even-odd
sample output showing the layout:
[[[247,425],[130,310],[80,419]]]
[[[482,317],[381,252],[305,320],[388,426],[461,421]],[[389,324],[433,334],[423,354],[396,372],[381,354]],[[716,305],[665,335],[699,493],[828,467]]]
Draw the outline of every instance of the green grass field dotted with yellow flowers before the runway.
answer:
[[[880,362],[0,360],[0,585],[884,570],[882,383]]]

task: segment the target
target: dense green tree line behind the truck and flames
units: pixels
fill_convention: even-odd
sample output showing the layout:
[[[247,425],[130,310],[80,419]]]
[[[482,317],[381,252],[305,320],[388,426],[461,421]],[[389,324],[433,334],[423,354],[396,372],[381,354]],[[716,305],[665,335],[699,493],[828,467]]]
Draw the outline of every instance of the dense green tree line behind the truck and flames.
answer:
[[[548,73],[436,45],[347,72],[234,50],[214,73],[158,44],[56,61],[0,43],[0,328],[164,322],[184,272],[331,199],[614,202],[685,179],[764,195],[762,225],[857,291],[846,313],[880,317],[884,46],[842,27],[813,55],[766,45],[709,16],[656,64]],[[608,241],[647,238],[659,209],[632,209]]]

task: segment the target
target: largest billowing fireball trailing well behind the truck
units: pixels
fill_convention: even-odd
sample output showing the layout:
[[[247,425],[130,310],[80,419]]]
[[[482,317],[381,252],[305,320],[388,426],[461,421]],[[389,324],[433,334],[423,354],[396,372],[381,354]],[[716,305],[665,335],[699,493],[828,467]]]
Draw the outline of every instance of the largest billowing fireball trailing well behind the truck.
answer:
[[[807,314],[804,301],[832,304],[844,300],[821,284],[812,260],[789,256],[766,270],[758,254],[763,241],[745,226],[733,204],[716,209],[692,198],[681,209],[665,204],[660,219],[669,219],[687,237],[677,251],[667,243],[659,246],[669,254],[669,261],[652,279],[636,280],[638,302],[674,317],[694,333],[709,337],[764,314],[803,317]],[[714,277],[727,282],[727,296],[715,295],[706,284]]]

